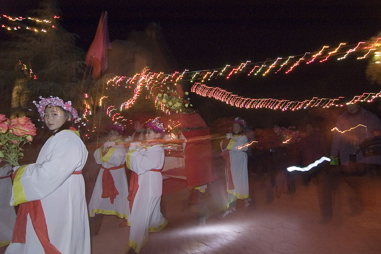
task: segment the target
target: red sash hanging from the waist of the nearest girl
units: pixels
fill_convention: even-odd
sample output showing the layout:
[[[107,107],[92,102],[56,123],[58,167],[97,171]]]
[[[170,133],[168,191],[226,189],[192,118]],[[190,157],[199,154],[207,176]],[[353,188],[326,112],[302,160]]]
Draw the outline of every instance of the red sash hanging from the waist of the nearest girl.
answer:
[[[74,171],[72,175],[80,175],[82,171]],[[30,221],[33,229],[36,232],[38,239],[45,253],[59,254],[56,247],[50,242],[48,228],[46,225],[44,210],[42,209],[41,201],[29,201],[19,205],[15,228],[13,230],[12,242],[24,243],[26,237],[26,221],[27,216],[30,216]]]

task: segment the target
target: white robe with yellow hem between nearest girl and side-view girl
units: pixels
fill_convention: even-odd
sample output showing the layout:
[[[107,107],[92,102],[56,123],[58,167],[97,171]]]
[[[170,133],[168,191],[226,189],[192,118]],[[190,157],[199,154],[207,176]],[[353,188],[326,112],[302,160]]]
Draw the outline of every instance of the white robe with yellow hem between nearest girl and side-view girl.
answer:
[[[123,146],[114,146],[103,157],[100,150],[102,150],[102,148],[98,148],[94,152],[94,158],[97,164],[102,164],[102,166],[106,168],[124,164],[127,152]],[[112,178],[114,179],[115,188],[119,192],[114,199],[114,204],[111,204],[109,197],[102,198],[102,177],[104,171],[105,170],[101,168],[91,195],[90,203],[88,205],[90,217],[95,216],[96,213],[102,213],[117,215],[119,218],[127,219],[130,214],[129,201],[127,200],[129,186],[124,167],[118,168],[117,170],[110,170]]]

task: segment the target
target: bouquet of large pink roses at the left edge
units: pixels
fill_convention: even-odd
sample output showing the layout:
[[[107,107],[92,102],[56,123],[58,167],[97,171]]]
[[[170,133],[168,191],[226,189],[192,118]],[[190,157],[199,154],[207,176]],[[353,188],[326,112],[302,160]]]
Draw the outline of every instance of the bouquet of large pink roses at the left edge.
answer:
[[[0,160],[18,166],[24,157],[22,147],[30,144],[36,135],[36,127],[27,117],[9,120],[0,114]]]

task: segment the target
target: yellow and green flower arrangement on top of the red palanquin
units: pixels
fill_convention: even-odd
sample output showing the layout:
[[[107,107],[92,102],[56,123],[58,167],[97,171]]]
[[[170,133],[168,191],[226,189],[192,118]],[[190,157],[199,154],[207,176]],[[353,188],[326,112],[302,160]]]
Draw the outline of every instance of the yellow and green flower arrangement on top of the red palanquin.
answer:
[[[189,103],[190,98],[185,98],[189,93],[185,92],[185,96],[181,98],[180,94],[173,89],[167,87],[167,91],[158,93],[155,100],[157,109],[161,109],[166,114],[170,112],[183,112],[185,108],[193,106]]]

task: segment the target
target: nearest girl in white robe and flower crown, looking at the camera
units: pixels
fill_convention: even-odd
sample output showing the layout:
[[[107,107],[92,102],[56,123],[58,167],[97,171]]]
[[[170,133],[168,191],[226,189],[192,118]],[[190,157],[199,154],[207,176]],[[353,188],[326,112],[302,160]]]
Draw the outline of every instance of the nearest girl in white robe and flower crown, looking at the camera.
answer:
[[[71,103],[42,98],[41,117],[54,134],[36,163],[14,167],[10,204],[20,205],[11,244],[5,253],[90,253],[90,232],[82,168],[87,150]]]

